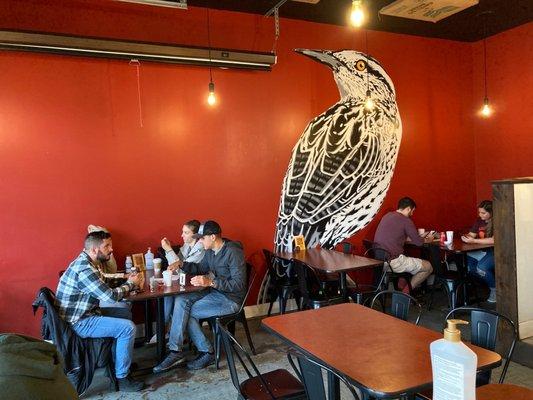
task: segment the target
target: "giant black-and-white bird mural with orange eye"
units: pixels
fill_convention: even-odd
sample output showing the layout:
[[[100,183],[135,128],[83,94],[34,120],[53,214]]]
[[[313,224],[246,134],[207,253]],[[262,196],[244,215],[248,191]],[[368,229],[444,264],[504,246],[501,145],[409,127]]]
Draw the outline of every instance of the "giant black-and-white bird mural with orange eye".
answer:
[[[332,248],[364,228],[390,185],[402,123],[390,77],[378,61],[353,50],[296,50],[333,71],[340,100],[305,128],[283,181],[276,250],[293,236]],[[375,107],[365,109],[370,90]]]

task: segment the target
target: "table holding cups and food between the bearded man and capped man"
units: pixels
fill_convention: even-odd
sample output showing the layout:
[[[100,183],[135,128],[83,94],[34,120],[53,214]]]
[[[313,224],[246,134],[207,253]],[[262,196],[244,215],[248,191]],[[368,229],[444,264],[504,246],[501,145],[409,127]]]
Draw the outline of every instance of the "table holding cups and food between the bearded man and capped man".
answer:
[[[154,276],[156,278],[162,278],[161,272],[154,273],[153,270],[147,270],[144,272],[144,286],[143,290],[137,294],[130,294],[124,298],[126,301],[144,301],[150,300],[156,301],[156,336],[157,336],[157,359],[162,361],[165,357],[165,312],[164,312],[164,298],[168,296],[176,296],[180,294],[199,292],[204,290],[204,287],[192,286],[190,283],[190,275],[187,275],[187,284],[184,287],[180,287],[178,281],[172,281],[172,286],[158,285],[154,292],[150,291],[150,278]],[[147,304],[148,307],[148,304]],[[151,324],[149,318],[145,318],[146,324]]]

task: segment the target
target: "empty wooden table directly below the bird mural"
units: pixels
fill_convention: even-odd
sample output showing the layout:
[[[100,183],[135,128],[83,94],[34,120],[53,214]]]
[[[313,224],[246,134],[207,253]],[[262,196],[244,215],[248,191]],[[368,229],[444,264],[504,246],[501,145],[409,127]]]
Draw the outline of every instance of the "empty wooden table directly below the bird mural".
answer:
[[[295,252],[276,252],[275,256],[285,260],[296,259],[304,262],[309,267],[326,273],[338,273],[340,289],[347,299],[346,273],[364,268],[373,268],[383,265],[383,261],[373,258],[345,254],[335,250],[308,249]]]

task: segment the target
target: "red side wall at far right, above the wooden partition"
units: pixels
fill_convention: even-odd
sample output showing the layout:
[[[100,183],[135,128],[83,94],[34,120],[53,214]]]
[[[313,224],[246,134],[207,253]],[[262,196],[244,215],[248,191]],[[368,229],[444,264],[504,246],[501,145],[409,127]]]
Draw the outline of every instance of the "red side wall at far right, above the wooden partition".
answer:
[[[474,45],[474,102],[483,102],[483,42]],[[487,39],[490,118],[476,118],[478,201],[492,197],[491,181],[533,176],[533,23]],[[472,160],[474,164],[474,159]]]

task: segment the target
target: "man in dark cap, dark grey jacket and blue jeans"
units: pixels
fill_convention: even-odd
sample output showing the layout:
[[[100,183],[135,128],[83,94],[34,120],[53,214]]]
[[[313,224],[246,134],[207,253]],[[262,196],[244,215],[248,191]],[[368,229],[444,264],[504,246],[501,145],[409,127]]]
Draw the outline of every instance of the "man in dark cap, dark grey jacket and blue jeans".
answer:
[[[187,363],[187,368],[201,369],[215,361],[213,346],[205,337],[199,320],[238,311],[247,289],[242,245],[221,235],[218,223],[206,221],[196,234],[206,250],[202,261],[176,261],[169,265],[171,270],[181,269],[195,275],[191,284],[205,287],[206,290],[176,296],[168,340],[170,352],[154,367],[155,373],[168,371],[186,362],[182,351],[186,331],[199,351],[198,357]]]

